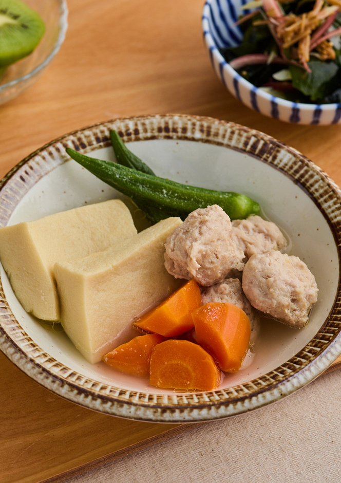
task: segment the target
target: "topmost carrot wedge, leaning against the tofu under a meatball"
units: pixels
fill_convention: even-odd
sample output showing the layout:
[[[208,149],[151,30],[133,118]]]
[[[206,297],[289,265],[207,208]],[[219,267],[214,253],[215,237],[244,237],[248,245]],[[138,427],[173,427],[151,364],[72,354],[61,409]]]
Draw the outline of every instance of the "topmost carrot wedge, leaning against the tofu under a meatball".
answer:
[[[134,325],[146,332],[176,337],[194,327],[192,312],[201,305],[201,293],[195,280],[186,282],[157,307],[142,315]]]

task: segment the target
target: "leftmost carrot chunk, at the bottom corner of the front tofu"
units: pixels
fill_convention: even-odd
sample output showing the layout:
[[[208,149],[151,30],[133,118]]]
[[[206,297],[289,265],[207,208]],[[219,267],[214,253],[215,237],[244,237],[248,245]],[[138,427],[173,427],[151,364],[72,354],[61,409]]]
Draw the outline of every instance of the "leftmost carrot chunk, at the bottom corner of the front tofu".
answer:
[[[105,354],[102,360],[125,374],[148,377],[151,350],[163,341],[158,334],[137,336]]]

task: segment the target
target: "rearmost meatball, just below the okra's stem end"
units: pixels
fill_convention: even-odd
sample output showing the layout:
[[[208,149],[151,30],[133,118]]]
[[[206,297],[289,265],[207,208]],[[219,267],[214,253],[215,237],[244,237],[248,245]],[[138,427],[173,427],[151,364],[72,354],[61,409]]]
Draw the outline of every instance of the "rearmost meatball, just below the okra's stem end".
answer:
[[[234,220],[232,227],[237,243],[244,252],[245,261],[255,253],[281,250],[287,246],[287,240],[277,225],[258,215],[249,216],[245,220]]]

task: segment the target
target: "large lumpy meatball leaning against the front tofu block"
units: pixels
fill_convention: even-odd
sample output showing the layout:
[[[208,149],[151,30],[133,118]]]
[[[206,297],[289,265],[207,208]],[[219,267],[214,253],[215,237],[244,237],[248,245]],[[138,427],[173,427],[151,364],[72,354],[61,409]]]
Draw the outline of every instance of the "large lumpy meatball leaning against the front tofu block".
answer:
[[[221,282],[230,270],[244,267],[230,217],[218,205],[190,213],[168,236],[165,249],[166,270],[202,286]]]

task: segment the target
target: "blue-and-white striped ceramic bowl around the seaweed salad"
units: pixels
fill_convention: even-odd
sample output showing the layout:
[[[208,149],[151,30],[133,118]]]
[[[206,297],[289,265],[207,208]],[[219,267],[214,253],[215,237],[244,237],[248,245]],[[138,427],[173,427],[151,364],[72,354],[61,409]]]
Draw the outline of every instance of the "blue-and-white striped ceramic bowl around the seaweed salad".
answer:
[[[239,101],[266,116],[295,124],[338,124],[340,104],[304,104],[281,99],[254,86],[241,77],[222,57],[221,47],[241,42],[242,32],[235,25],[247,0],[207,0],[202,15],[202,30],[213,68],[224,86]]]

